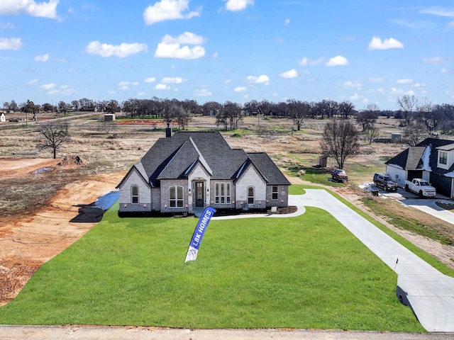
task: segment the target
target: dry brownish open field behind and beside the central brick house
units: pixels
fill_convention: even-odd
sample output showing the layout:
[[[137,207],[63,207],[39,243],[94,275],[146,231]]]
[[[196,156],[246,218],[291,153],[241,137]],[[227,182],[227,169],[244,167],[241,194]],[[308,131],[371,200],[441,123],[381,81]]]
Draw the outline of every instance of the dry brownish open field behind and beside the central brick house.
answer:
[[[48,118],[53,117],[48,114]],[[0,191],[6,193],[0,198],[2,214],[0,221],[5,216],[33,212],[43,207],[58,188],[74,179],[83,179],[93,174],[109,174],[127,171],[132,164],[148,151],[157,138],[164,137],[164,125],[157,120],[153,125],[149,120],[138,119],[133,126],[118,124],[109,125],[109,129],[103,128],[101,115],[89,115],[70,120],[70,134],[72,141],[63,145],[57,153],[57,157],[72,154],[82,157],[87,161],[85,166],[55,167],[55,171],[46,174],[23,176],[19,179],[4,179],[0,182]],[[267,152],[272,159],[289,175],[297,176],[303,170],[304,176],[299,177],[304,181],[318,183],[323,186],[336,188],[336,191],[349,200],[358,201],[362,191],[359,184],[372,181],[372,176],[377,171],[384,171],[384,162],[394,157],[407,147],[404,144],[385,144],[362,141],[360,152],[355,157],[348,159],[345,170],[349,176],[349,183],[332,183],[327,181],[330,177],[329,169],[336,166],[334,159],[328,158],[326,169],[320,169],[320,139],[323,126],[327,120],[304,120],[301,131],[294,131],[292,120],[284,118],[245,118],[241,130],[226,131],[223,135],[233,147],[240,147],[248,152]],[[38,123],[45,120],[38,120]],[[124,123],[124,122],[122,122]],[[144,125],[140,125],[143,123]],[[188,130],[216,128],[214,117],[194,117],[189,123]],[[50,152],[38,152],[35,148],[34,139],[37,135],[38,126],[28,124],[27,127],[7,128],[11,124],[0,125],[0,157],[50,157]],[[390,137],[394,132],[402,132],[399,121],[393,118],[381,117],[377,121],[381,137]],[[173,128],[177,128],[174,125]],[[363,204],[358,201],[358,204]],[[393,206],[392,204],[390,204]],[[393,208],[393,214],[399,215],[397,206]],[[408,210],[408,209],[407,209]],[[419,217],[419,212],[412,210],[415,220],[424,220]],[[409,213],[404,213],[404,218]],[[427,220],[427,219],[426,219]],[[443,221],[428,220],[423,228],[438,229],[441,238],[448,237],[454,242],[454,227]],[[430,234],[430,233],[427,233]]]

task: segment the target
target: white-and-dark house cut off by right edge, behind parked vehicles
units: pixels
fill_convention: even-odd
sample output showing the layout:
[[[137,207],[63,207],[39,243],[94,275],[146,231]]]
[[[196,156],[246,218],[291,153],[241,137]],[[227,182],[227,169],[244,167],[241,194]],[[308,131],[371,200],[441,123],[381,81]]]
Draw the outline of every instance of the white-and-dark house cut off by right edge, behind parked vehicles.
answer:
[[[437,193],[454,198],[454,140],[426,138],[385,164],[386,173],[401,188],[406,179],[425,179]]]

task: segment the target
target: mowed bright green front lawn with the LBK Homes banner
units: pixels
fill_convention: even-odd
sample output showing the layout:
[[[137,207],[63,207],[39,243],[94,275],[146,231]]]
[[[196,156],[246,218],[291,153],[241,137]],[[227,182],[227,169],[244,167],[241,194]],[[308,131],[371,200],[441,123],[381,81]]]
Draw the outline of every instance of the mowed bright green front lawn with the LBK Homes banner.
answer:
[[[119,218],[118,204],[45,263],[0,324],[424,331],[397,276],[331,215],[211,220]]]

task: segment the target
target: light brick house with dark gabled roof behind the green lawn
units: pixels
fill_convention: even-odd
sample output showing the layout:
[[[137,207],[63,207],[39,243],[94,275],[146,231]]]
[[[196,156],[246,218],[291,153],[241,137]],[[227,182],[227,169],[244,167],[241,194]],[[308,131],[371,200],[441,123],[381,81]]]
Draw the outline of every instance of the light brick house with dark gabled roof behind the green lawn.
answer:
[[[120,213],[287,207],[290,183],[265,152],[232,149],[217,131],[166,136],[118,184]]]

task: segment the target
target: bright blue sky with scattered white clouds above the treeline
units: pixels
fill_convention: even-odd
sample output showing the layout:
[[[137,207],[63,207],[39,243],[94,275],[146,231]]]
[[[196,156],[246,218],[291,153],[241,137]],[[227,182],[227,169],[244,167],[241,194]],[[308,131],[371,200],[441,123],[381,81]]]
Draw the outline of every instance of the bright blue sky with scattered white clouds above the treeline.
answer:
[[[405,94],[454,103],[454,1],[0,1],[0,104]]]

